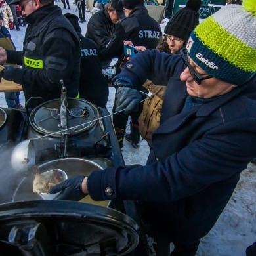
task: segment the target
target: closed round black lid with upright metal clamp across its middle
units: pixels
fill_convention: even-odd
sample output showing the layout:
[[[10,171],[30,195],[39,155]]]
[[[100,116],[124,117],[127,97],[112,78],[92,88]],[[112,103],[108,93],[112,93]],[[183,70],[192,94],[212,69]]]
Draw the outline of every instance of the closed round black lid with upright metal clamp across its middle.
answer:
[[[67,129],[65,133],[70,136],[91,131],[98,121],[93,121],[100,117],[98,108],[83,99],[67,100],[66,119]],[[60,125],[60,100],[51,100],[35,108],[30,114],[30,125],[33,130],[41,135],[51,135],[60,137],[62,133]],[[69,129],[74,127],[74,129]],[[58,133],[59,131],[59,133]]]

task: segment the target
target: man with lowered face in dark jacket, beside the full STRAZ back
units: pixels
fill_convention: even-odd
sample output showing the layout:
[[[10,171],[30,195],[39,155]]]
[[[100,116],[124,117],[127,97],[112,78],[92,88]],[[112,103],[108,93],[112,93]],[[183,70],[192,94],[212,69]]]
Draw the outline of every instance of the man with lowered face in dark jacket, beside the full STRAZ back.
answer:
[[[85,37],[95,41],[101,51],[110,41],[117,23],[123,17],[123,2],[121,0],[110,1],[104,9],[91,16]]]

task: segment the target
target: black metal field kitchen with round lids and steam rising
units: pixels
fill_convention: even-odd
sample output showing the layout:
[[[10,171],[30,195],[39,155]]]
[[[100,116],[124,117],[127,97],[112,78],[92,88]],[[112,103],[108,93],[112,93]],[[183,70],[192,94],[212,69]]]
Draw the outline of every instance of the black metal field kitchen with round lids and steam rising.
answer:
[[[0,255],[127,254],[139,240],[133,202],[48,201],[32,191],[33,165],[68,177],[125,165],[108,111],[62,87],[60,99],[27,112],[0,108]]]

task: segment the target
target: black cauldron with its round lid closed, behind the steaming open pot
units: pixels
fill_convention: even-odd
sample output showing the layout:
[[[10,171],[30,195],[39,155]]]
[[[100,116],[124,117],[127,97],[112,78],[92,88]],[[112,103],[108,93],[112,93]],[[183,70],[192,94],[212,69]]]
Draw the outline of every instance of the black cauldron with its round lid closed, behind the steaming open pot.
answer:
[[[110,155],[108,132],[98,120],[102,117],[100,108],[87,100],[68,98],[66,127],[62,126],[61,117],[60,100],[45,102],[31,112],[28,139],[35,139],[36,162]]]

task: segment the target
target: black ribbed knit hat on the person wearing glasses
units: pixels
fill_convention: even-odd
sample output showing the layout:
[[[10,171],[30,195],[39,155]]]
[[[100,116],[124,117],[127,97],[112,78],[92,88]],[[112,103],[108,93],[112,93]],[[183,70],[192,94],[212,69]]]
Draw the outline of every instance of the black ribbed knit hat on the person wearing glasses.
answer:
[[[188,0],[186,7],[180,9],[165,26],[165,33],[188,40],[190,33],[199,24],[198,10],[201,0]]]

